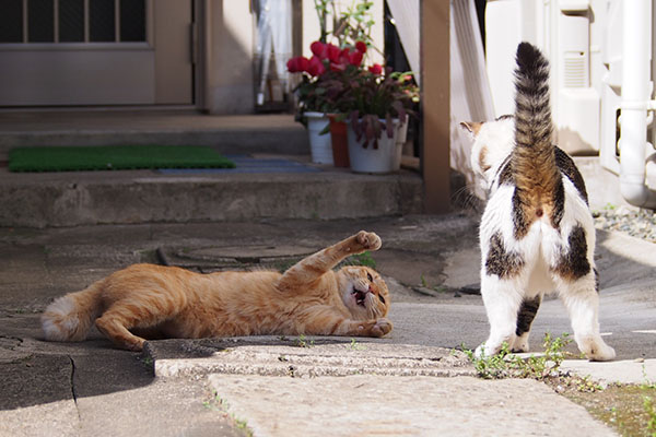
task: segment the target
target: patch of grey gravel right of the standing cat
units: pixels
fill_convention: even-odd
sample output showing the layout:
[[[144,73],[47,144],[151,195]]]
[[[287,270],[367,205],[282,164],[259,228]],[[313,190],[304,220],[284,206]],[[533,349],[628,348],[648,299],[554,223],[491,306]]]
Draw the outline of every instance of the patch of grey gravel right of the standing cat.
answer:
[[[608,205],[593,211],[598,229],[618,231],[656,243],[656,214],[652,210]]]

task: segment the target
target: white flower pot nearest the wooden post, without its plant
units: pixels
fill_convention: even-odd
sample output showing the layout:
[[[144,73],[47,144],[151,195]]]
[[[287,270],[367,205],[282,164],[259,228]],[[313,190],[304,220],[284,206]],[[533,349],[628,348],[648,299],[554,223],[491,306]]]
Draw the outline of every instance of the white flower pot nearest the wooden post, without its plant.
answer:
[[[382,120],[383,121],[383,120]],[[393,173],[398,172],[401,166],[402,142],[399,142],[399,120],[393,120],[394,135],[387,137],[383,131],[378,139],[378,149],[374,149],[373,144],[365,147],[362,146],[365,139],[356,140],[355,131],[349,123],[349,160],[351,161],[351,169],[355,173]],[[407,122],[405,123],[407,125]]]

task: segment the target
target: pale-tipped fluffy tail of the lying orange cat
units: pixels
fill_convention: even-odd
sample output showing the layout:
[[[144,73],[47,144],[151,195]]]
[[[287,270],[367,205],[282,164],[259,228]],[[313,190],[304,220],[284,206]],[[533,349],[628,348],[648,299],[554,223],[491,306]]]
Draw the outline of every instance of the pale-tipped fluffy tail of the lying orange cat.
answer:
[[[99,294],[103,280],[87,288],[69,293],[52,302],[42,315],[42,329],[46,340],[82,341],[101,315]]]

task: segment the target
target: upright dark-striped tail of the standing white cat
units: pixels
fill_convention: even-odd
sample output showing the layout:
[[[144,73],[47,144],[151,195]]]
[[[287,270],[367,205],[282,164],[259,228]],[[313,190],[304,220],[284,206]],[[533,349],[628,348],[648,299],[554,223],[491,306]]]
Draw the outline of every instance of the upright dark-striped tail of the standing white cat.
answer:
[[[530,223],[552,215],[562,188],[552,142],[549,62],[528,43],[517,47],[515,70],[515,147],[512,155],[516,201]],[[553,218],[553,217],[552,217]]]

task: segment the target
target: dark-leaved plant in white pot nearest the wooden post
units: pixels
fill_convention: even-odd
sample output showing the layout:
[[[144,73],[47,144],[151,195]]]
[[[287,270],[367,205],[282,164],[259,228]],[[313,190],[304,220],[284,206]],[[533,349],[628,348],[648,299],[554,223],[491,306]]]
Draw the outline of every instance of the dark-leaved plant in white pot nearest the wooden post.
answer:
[[[408,116],[419,102],[411,73],[378,64],[368,69],[345,66],[326,83],[326,96],[339,102],[348,121],[349,161],[359,173],[390,173],[400,167]]]

